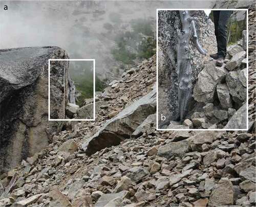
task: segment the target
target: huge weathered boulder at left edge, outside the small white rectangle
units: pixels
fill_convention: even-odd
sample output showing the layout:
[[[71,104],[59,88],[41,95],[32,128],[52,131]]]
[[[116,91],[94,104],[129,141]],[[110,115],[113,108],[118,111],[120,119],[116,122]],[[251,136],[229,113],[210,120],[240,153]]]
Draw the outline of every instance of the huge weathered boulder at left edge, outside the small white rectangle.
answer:
[[[0,55],[1,171],[5,171],[49,144],[47,131],[54,123],[48,122],[48,59],[68,55],[57,47],[7,49]],[[65,68],[53,66],[55,74]],[[65,104],[61,97],[53,98]]]

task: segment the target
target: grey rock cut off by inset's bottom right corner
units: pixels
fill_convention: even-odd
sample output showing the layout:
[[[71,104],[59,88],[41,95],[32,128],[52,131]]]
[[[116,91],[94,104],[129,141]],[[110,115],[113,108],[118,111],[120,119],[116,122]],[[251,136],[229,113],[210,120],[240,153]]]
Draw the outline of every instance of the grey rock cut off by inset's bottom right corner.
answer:
[[[246,129],[246,112],[247,104],[245,103],[237,110],[236,113],[233,114],[228,123],[225,125],[224,129]]]

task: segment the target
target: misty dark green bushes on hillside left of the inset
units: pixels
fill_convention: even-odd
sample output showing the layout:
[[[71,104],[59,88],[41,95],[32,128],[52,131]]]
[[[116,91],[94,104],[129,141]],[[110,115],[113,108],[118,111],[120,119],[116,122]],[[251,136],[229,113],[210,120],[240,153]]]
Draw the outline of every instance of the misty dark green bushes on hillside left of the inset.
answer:
[[[131,28],[131,31],[115,37],[117,48],[111,51],[114,58],[123,64],[133,64],[135,58],[147,59],[156,53],[152,21],[135,19],[131,21]]]

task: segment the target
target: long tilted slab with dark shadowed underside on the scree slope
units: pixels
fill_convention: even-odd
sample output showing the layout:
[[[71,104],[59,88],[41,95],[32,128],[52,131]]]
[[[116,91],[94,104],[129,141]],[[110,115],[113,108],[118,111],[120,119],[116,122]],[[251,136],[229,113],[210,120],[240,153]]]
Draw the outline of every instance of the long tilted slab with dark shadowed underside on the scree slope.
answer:
[[[156,87],[106,122],[94,136],[82,144],[82,149],[91,155],[105,147],[118,145],[122,140],[129,138],[137,127],[155,112]]]

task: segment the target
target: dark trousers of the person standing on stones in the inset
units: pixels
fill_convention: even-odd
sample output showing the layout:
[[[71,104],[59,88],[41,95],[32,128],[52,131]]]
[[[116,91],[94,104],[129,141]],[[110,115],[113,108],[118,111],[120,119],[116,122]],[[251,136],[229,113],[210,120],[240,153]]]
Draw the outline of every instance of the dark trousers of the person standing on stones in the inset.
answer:
[[[232,11],[222,10],[218,22],[218,56],[225,58],[227,55],[227,22]]]

